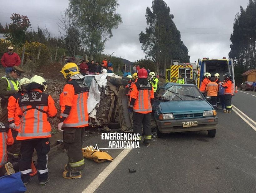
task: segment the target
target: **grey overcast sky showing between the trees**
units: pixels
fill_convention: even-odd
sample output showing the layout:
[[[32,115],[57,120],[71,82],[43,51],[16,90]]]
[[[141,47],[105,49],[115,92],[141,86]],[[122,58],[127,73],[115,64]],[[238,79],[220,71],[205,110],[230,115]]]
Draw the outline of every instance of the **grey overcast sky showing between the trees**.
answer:
[[[151,0],[119,0],[117,12],[123,23],[113,30],[113,37],[106,42],[106,54],[115,52],[130,61],[144,58],[139,33],[145,32],[146,7]],[[239,6],[246,8],[248,0],[165,0],[174,15],[174,22],[181,32],[181,40],[189,49],[190,60],[198,58],[228,57],[230,34],[233,31],[235,14]],[[68,0],[12,0],[2,1],[0,22],[10,23],[12,13],[27,15],[32,29],[47,27],[58,36],[58,18],[68,7]]]

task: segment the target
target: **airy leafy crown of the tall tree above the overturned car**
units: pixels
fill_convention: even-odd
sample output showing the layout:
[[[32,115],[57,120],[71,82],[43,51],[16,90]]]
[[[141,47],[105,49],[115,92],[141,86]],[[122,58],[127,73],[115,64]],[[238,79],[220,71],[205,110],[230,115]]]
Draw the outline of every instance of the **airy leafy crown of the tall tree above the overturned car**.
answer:
[[[67,11],[80,28],[81,42],[90,55],[102,53],[112,29],[122,22],[117,0],[70,0]]]

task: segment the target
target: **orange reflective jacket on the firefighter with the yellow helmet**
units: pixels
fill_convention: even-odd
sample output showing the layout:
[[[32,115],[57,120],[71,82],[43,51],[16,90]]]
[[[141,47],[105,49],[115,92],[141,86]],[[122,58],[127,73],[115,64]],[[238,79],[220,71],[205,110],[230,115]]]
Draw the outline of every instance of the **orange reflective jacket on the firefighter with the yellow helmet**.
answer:
[[[87,99],[89,89],[83,79],[69,81],[60,96],[63,127],[88,126]]]

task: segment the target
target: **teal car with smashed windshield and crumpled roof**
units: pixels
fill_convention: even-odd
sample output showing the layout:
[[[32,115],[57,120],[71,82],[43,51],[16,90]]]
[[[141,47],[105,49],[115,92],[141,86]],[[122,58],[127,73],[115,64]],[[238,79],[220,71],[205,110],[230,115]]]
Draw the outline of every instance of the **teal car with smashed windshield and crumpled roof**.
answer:
[[[199,89],[193,84],[165,83],[155,94],[157,136],[164,133],[207,130],[215,137],[218,124],[217,113]]]

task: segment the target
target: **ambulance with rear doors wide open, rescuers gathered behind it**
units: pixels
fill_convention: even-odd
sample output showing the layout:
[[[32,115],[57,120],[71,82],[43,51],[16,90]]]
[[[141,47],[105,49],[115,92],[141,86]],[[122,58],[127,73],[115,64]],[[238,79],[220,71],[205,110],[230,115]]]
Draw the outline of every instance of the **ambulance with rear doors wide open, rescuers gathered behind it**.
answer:
[[[190,78],[188,76],[185,76],[184,78],[185,84],[186,82],[187,84],[194,83],[199,88],[205,72],[210,73],[211,77],[213,77],[215,73],[219,73],[220,81],[223,81],[224,73],[229,72],[233,77],[234,87],[235,87],[233,59],[226,59],[225,57],[223,57],[222,59],[209,59],[209,58],[203,58],[202,60],[198,59],[196,72],[195,71],[192,72],[192,71],[190,69],[185,69],[185,74],[193,73],[193,76]]]

